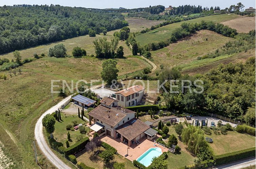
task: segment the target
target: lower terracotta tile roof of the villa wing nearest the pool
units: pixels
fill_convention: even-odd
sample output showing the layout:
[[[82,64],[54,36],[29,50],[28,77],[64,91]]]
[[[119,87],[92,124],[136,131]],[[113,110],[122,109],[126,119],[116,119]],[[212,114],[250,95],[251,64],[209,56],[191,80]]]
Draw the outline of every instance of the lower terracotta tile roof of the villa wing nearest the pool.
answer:
[[[125,124],[117,127],[115,130],[128,140],[132,140],[150,127],[143,123],[140,119],[133,118]]]

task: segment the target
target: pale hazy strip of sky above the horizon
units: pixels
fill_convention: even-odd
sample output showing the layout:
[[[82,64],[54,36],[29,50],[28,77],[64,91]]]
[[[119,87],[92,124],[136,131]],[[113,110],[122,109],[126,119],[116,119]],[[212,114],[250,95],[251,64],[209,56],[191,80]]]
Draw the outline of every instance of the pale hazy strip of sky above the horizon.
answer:
[[[230,5],[237,4],[238,2],[242,2],[245,6],[244,9],[251,7],[255,8],[255,0],[175,0],[175,1],[167,1],[167,0],[0,0],[0,6],[3,5],[13,5],[13,4],[59,4],[61,6],[71,6],[71,7],[86,7],[86,8],[139,8],[139,7],[148,7],[149,5],[164,5],[164,6],[179,6],[179,5],[201,5],[202,7],[208,6],[220,6],[221,9],[225,7],[229,7]]]

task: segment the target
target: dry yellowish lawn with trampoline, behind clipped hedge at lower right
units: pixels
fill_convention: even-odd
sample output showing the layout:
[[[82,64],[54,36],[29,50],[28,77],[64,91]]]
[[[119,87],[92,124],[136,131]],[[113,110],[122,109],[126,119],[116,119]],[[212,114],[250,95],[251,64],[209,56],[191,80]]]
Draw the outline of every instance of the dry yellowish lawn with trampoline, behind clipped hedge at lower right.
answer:
[[[255,147],[255,137],[249,134],[241,134],[236,131],[227,131],[226,135],[205,134],[205,137],[213,138],[213,143],[209,145],[213,148],[215,155],[230,153],[243,149]]]

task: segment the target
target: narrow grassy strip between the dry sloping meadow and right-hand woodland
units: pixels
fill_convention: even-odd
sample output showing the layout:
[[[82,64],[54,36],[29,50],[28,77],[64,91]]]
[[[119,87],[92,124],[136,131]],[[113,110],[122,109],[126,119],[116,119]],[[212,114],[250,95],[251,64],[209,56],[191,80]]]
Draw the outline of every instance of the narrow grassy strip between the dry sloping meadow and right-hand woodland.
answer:
[[[217,68],[219,64],[245,62],[249,57],[255,56],[255,49],[251,49],[248,52],[236,53],[232,55],[223,55],[216,58],[194,60],[187,64],[178,65],[177,68],[181,70],[183,74],[204,74],[211,69]]]

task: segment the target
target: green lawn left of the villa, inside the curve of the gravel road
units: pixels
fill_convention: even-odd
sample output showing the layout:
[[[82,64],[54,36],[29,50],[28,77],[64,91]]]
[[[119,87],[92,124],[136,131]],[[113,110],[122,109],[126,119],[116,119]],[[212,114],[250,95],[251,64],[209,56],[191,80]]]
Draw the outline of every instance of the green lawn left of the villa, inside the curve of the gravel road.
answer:
[[[70,133],[71,140],[72,140],[71,142],[69,142],[70,146],[76,143],[76,141],[75,141],[76,136],[81,134],[79,132],[79,130],[77,130],[77,131],[66,130],[66,126],[68,124],[73,125],[72,120],[74,120],[74,119],[77,120],[77,124],[87,124],[88,123],[88,121],[78,118],[77,115],[70,116],[70,115],[64,115],[63,113],[61,113],[61,121],[60,122],[56,121],[56,123],[55,123],[55,131],[53,133],[54,138],[56,139],[56,141],[61,142],[65,147],[66,147],[65,142],[67,140],[68,132]],[[85,127],[85,128],[86,128],[86,131],[89,131],[88,127]],[[86,135],[86,134],[84,134],[84,135]]]

